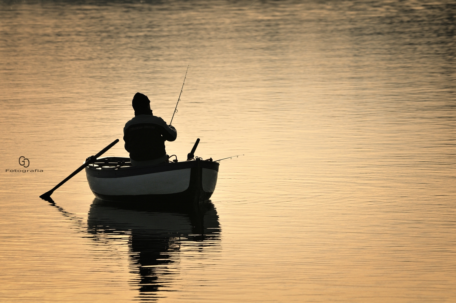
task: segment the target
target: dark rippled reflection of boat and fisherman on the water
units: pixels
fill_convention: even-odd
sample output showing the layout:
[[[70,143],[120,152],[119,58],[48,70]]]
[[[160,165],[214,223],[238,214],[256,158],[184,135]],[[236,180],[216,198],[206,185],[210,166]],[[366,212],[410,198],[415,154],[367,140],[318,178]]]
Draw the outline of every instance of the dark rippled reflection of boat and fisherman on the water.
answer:
[[[132,272],[140,276],[140,300],[158,299],[157,293],[175,279],[169,267],[180,257],[176,253],[181,252],[184,241],[192,241],[195,245],[191,246],[198,248],[192,254],[219,249],[218,215],[210,201],[150,209],[94,199],[87,225],[91,238],[105,244],[117,245],[114,241],[128,238]]]

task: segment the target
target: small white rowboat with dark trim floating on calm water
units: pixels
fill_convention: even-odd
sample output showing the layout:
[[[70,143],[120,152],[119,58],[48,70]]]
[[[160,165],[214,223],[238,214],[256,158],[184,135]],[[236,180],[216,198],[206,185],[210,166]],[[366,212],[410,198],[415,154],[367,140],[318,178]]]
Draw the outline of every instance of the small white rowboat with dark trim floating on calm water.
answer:
[[[103,157],[85,167],[98,199],[120,202],[202,202],[215,190],[218,162],[196,160],[132,166],[130,158]]]

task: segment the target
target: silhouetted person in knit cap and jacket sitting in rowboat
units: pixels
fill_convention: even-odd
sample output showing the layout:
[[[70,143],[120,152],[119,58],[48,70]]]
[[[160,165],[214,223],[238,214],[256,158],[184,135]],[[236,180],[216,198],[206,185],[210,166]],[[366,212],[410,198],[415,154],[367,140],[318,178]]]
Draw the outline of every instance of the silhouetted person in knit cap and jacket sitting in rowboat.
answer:
[[[168,162],[165,141],[176,140],[176,129],[152,115],[146,95],[136,93],[132,105],[135,117],[124,127],[125,149],[130,152],[131,164],[140,166]]]

